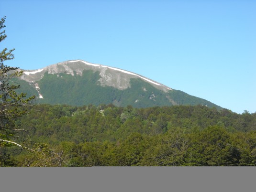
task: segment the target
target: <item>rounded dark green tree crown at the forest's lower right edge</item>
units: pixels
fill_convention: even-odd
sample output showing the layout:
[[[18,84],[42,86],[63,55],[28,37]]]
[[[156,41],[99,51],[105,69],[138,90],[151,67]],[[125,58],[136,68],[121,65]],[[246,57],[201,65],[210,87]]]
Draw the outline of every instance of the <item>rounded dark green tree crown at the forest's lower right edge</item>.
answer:
[[[190,135],[188,166],[237,166],[240,152],[224,128],[211,126]]]

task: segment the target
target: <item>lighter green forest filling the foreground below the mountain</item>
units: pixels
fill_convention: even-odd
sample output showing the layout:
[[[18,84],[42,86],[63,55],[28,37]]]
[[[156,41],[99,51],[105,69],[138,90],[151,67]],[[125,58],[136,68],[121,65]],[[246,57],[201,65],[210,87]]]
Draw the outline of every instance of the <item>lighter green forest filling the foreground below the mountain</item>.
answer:
[[[255,166],[256,113],[205,106],[37,105],[1,166]]]

